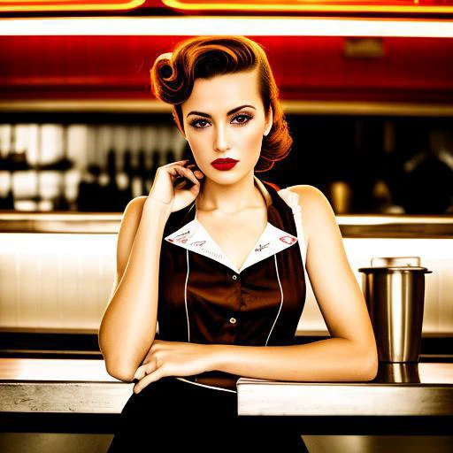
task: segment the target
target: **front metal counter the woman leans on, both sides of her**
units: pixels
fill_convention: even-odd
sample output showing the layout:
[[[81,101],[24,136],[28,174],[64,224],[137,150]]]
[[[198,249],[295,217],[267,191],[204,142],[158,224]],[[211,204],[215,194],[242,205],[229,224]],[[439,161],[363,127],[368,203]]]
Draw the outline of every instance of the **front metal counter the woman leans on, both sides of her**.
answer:
[[[118,414],[133,386],[104,360],[0,358],[1,412]],[[380,363],[370,382],[241,378],[237,390],[242,416],[452,417],[453,363]]]

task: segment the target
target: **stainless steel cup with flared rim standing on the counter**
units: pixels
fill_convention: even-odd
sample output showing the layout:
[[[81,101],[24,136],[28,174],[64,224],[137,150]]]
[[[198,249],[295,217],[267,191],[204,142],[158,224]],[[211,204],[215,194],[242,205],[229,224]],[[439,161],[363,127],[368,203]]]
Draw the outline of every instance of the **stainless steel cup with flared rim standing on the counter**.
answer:
[[[419,257],[373,257],[358,269],[381,362],[418,362],[425,304]]]

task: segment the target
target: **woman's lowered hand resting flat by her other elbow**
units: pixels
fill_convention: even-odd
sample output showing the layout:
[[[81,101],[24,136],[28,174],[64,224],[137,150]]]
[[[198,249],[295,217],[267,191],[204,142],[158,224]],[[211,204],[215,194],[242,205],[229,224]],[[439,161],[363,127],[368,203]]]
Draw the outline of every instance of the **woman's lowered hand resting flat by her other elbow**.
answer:
[[[192,376],[211,371],[213,345],[154,340],[142,365],[137,368],[134,393],[165,376]]]

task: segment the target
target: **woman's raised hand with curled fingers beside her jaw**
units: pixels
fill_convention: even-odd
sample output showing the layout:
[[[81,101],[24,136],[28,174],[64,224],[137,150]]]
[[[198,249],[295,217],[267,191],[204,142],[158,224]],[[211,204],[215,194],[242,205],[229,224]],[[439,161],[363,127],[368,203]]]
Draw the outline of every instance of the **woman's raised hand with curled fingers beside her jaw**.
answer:
[[[188,162],[178,160],[158,167],[148,198],[171,205],[171,212],[192,203],[200,193],[204,174],[196,164]]]

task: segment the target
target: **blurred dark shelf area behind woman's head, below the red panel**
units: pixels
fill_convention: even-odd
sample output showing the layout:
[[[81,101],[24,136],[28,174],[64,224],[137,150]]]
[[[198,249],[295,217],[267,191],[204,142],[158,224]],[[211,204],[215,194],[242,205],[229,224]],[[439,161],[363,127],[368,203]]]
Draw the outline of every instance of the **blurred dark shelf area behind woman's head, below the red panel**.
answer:
[[[315,186],[339,214],[453,213],[450,118],[287,119],[292,150],[262,180]],[[1,114],[0,150],[0,207],[17,211],[124,211],[189,152],[170,113],[104,112]]]

